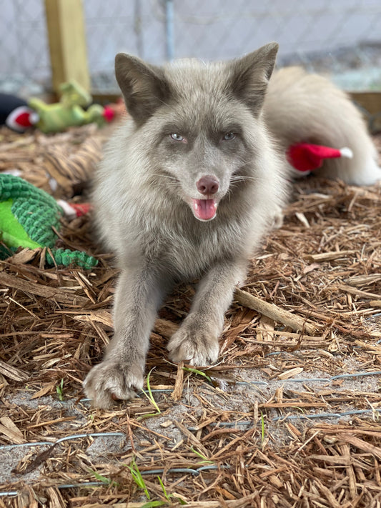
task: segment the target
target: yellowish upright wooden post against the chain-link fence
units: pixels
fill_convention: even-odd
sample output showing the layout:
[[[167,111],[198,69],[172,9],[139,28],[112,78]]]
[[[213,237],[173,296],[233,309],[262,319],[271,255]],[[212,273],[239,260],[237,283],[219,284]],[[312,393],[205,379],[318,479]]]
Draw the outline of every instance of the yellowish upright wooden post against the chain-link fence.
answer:
[[[45,0],[53,89],[75,79],[90,91],[81,0]]]

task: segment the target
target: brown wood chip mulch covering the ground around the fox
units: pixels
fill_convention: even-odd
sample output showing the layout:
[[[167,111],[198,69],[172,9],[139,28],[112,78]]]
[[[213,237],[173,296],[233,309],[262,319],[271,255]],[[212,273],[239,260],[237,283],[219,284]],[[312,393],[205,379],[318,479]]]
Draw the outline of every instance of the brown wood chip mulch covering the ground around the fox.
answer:
[[[0,171],[71,197],[101,138],[2,131]],[[52,191],[78,152],[90,169]],[[91,218],[63,234],[99,259],[91,272],[46,268],[40,251],[0,262],[0,507],[381,507],[381,186],[312,177],[294,194],[227,312],[219,364],[168,362],[194,294],[178,287],[152,332],[151,394],[110,412],[81,392],[117,277]]]

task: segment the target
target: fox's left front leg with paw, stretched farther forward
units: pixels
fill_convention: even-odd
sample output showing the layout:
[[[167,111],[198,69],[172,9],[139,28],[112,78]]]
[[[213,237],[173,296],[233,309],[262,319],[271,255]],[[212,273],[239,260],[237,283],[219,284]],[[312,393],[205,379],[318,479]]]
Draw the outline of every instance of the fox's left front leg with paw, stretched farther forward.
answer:
[[[132,399],[143,387],[149,335],[163,296],[162,281],[147,267],[123,270],[114,304],[114,338],[101,364],[84,380],[94,406],[107,409],[115,399]]]

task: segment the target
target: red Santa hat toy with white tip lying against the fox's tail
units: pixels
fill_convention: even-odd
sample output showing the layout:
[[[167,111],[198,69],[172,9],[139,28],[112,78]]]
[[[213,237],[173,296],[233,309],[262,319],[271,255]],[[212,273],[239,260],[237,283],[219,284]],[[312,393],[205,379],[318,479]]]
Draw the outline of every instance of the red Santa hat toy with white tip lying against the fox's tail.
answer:
[[[350,148],[336,149],[319,144],[297,143],[287,150],[287,160],[297,170],[297,176],[310,174],[314,169],[320,168],[325,159],[347,157],[352,159]]]

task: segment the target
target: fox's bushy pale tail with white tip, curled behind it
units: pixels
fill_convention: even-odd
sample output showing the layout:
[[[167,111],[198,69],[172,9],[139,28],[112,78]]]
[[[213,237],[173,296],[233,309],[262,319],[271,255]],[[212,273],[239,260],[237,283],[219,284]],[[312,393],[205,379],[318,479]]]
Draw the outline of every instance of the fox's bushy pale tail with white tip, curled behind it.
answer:
[[[325,77],[298,67],[274,73],[264,101],[264,118],[284,153],[301,142],[352,150],[352,159],[327,159],[318,174],[355,185],[371,185],[381,179],[377,150],[360,111]]]

